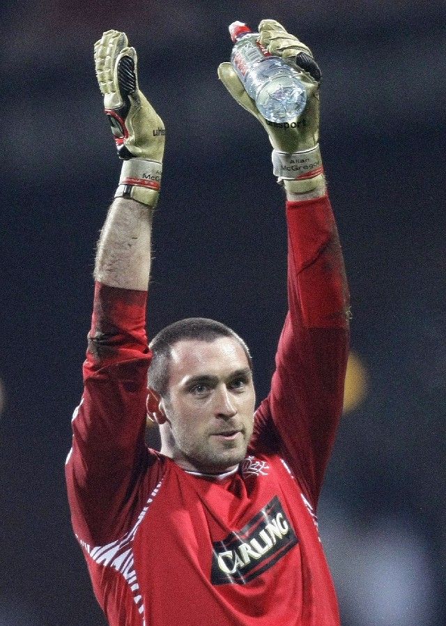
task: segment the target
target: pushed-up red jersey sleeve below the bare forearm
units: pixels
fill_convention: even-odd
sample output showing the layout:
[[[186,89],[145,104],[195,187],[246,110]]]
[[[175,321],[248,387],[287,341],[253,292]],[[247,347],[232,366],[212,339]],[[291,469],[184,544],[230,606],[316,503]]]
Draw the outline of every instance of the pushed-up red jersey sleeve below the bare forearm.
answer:
[[[84,393],[73,415],[66,463],[72,524],[78,539],[90,545],[104,545],[128,530],[150,462],[144,442],[151,358],[146,296],[95,285]]]

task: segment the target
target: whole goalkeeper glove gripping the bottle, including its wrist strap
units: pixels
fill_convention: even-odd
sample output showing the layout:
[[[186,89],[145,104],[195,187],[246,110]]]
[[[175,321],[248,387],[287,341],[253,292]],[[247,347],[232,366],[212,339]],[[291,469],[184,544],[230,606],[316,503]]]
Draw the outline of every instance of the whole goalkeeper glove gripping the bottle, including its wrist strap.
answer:
[[[275,20],[259,24],[259,43],[270,54],[281,56],[298,70],[307,91],[303,112],[291,122],[275,123],[266,120],[249,98],[231,63],[221,63],[218,77],[231,96],[259,120],[268,132],[272,145],[272,163],[278,182],[292,193],[305,193],[323,185],[323,167],[319,151],[319,82],[321,70],[309,47],[286,32]]]

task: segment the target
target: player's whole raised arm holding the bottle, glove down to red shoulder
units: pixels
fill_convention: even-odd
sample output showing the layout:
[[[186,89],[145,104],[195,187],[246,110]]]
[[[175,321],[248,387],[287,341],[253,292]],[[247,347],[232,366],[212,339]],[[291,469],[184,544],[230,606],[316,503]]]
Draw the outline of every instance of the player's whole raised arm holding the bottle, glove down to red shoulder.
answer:
[[[318,145],[321,72],[309,48],[275,20],[259,24],[259,43],[298,70],[307,105],[290,123],[267,121],[231,65],[219,68],[233,98],[268,132],[274,173],[287,198],[289,312],[271,392],[256,413],[253,445],[284,455],[316,506],[342,409],[348,289]]]

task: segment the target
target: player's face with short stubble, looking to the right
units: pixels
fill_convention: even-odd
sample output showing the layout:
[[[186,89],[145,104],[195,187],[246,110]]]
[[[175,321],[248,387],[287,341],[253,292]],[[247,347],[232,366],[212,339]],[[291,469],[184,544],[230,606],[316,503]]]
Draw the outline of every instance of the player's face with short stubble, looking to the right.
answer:
[[[171,349],[169,397],[160,403],[162,452],[181,467],[223,473],[245,457],[254,423],[252,372],[231,337]]]

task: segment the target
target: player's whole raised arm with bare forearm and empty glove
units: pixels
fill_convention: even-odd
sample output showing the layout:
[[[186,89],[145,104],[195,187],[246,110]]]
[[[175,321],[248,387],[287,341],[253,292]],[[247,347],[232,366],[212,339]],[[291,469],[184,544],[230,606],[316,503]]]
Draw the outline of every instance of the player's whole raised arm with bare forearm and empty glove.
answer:
[[[164,125],[139,91],[136,65],[125,33],[107,31],[95,44],[96,75],[123,167],[98,243],[84,394],[66,466],[73,526],[89,545],[128,530],[149,462],[146,292]]]

